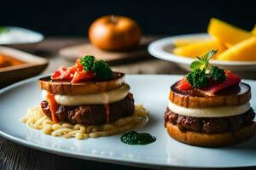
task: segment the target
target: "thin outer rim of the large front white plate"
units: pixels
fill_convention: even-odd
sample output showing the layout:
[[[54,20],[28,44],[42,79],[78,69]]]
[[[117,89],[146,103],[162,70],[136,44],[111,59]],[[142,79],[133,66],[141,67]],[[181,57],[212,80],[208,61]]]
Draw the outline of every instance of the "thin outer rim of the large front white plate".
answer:
[[[20,82],[15,82],[12,85],[9,85],[6,88],[2,88],[0,89],[0,95],[11,90],[12,88],[16,88],[19,87],[22,84],[25,84],[27,82],[33,82],[38,80],[39,77],[44,77],[44,76],[49,76],[49,75],[39,75],[36,77],[31,77],[28,78],[26,80],[20,81]],[[155,75],[155,74],[142,74],[142,75],[137,75],[137,74],[127,74],[125,76],[128,77],[180,77],[183,75],[168,75],[168,74],[160,74],[160,75]],[[251,79],[243,79],[245,81],[248,82],[256,82],[256,80],[251,80]],[[114,164],[119,164],[119,165],[128,165],[128,166],[133,166],[133,167],[162,167],[162,168],[167,168],[167,167],[177,167],[177,168],[234,168],[234,167],[255,167],[255,164],[251,164],[251,165],[241,165],[241,166],[218,166],[218,167],[212,167],[212,166],[189,166],[189,165],[173,165],[173,164],[160,164],[160,163],[154,163],[154,164],[150,164],[148,162],[144,162],[144,161],[134,161],[134,160],[124,160],[124,159],[118,159],[116,157],[104,157],[104,156],[100,156],[100,155],[96,155],[96,156],[88,156],[88,155],[83,155],[81,153],[75,152],[73,150],[63,150],[63,149],[55,149],[55,148],[49,148],[47,146],[44,146],[42,144],[37,144],[37,143],[33,143],[32,141],[26,141],[24,139],[20,139],[18,137],[14,137],[9,133],[4,133],[2,131],[2,129],[0,129],[0,136],[2,136],[4,139],[9,139],[12,142],[15,142],[16,144],[21,144],[24,145],[28,148],[32,148],[35,150],[41,150],[41,151],[46,151],[48,153],[51,154],[56,154],[59,156],[69,156],[69,157],[73,157],[73,158],[78,158],[78,159],[83,159],[83,160],[90,160],[90,161],[102,161],[102,162],[108,162],[108,163],[114,163]]]

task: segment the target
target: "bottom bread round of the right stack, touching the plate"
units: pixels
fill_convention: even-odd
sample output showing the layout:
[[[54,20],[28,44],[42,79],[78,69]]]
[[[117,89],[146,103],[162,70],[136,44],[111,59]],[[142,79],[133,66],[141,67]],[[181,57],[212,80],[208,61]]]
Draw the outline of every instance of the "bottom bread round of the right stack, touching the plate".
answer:
[[[166,123],[166,129],[173,139],[177,139],[185,144],[218,147],[224,145],[238,144],[253,137],[256,131],[256,123],[248,127],[242,127],[240,130],[233,133],[196,133],[196,132],[182,132],[176,125],[171,122]]]

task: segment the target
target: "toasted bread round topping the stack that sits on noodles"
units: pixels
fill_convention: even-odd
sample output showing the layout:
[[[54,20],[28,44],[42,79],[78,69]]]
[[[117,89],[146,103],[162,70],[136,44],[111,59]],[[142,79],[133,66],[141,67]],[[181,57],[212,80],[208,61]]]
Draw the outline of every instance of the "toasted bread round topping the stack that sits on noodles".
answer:
[[[39,87],[53,94],[95,94],[119,88],[125,83],[125,74],[114,72],[113,79],[109,81],[90,80],[86,82],[71,83],[70,81],[53,81],[50,77],[39,79]]]

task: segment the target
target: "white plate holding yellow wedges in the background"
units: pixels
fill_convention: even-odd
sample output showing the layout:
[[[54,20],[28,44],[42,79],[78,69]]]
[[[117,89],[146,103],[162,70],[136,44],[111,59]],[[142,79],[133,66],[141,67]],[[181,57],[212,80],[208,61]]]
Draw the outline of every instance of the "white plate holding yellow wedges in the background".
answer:
[[[174,48],[174,41],[178,38],[195,38],[195,37],[209,37],[207,33],[188,34],[182,36],[165,37],[154,42],[148,46],[149,54],[158,59],[165,59],[180,65],[185,70],[189,70],[189,65],[195,60],[189,57],[183,57],[172,54]],[[212,65],[218,65],[224,69],[241,73],[242,75],[249,73],[249,71],[256,71],[256,61],[219,61],[211,60]]]

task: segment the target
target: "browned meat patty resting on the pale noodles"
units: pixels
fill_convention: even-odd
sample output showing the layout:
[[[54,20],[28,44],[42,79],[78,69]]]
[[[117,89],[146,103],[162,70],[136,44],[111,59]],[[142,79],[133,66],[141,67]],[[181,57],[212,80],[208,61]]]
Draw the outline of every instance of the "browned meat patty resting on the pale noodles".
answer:
[[[109,104],[108,106],[109,122],[114,122],[125,116],[131,116],[135,107],[132,94],[128,94],[125,99]],[[51,118],[49,103],[44,100],[41,102],[41,107],[44,114]],[[55,115],[58,117],[59,121],[71,122],[72,124],[100,125],[107,122],[107,112],[104,105],[59,105]]]

